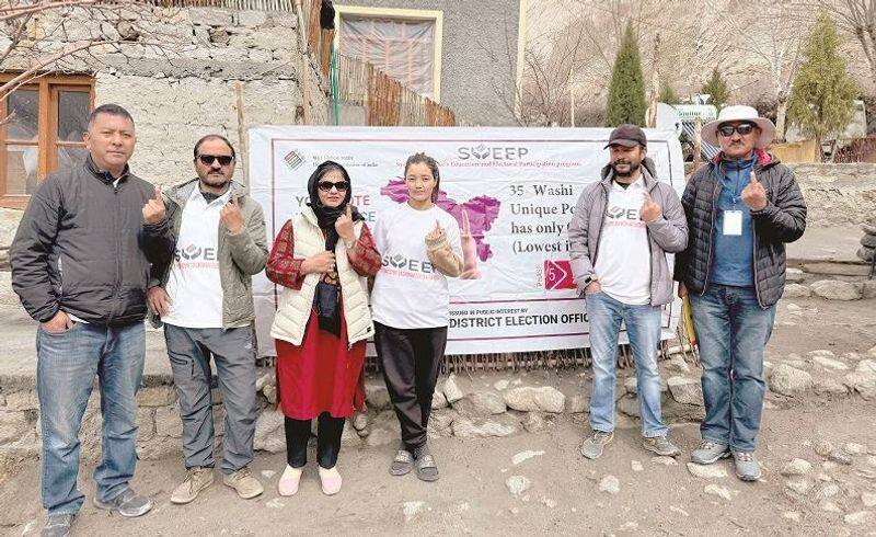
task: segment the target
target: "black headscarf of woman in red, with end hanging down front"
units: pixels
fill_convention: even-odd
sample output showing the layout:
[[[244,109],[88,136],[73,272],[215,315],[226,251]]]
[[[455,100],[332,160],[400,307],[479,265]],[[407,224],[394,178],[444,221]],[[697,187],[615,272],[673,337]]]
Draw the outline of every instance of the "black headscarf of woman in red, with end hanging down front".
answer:
[[[348,186],[346,195],[344,196],[344,201],[341,202],[341,205],[337,207],[326,207],[322,204],[322,202],[320,202],[319,183],[326,173],[333,170],[341,172],[341,175],[344,176],[344,181],[347,182]],[[318,165],[316,170],[313,171],[308,180],[308,195],[310,196],[310,202],[308,202],[308,205],[316,215],[316,222],[319,224],[320,229],[322,229],[323,235],[325,235],[325,250],[334,252],[337,241],[341,238],[337,235],[337,230],[335,230],[335,221],[341,217],[341,215],[346,213],[347,205],[353,198],[353,184],[350,183],[347,170],[345,170],[343,165],[332,160],[326,160],[322,164]],[[351,205],[350,207],[353,208],[353,221],[365,220],[356,207]],[[330,284],[320,279],[320,282],[316,284],[316,293],[313,295],[313,306],[316,308],[320,329],[331,332],[337,336],[341,336],[341,309],[337,307],[339,294],[339,283]]]

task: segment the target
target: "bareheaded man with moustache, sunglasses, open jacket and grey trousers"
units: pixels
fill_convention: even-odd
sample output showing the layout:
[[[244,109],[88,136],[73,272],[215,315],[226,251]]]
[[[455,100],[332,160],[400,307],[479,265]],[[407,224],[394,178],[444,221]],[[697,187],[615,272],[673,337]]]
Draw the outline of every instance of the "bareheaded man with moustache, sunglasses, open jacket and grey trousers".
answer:
[[[255,319],[252,276],[267,260],[262,207],[234,174],[234,148],[222,136],[195,145],[197,179],[165,193],[176,255],[153,271],[147,302],[164,324],[168,356],[180,396],[187,476],[171,502],[189,503],[214,482],[210,357],[224,407],[223,482],[243,499],[263,492],[249,470],[255,434]]]

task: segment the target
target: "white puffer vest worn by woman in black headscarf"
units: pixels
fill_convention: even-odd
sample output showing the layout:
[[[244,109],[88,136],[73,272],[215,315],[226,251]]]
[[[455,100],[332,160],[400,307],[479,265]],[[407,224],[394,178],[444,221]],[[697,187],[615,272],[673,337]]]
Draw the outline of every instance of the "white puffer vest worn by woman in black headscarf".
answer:
[[[357,221],[353,229],[358,238],[364,222]],[[292,218],[296,259],[307,259],[325,250],[325,238],[316,224],[316,215],[310,207],[304,207],[300,215]],[[349,346],[357,341],[373,335],[374,323],[368,308],[368,278],[359,276],[347,259],[347,249],[343,240],[335,247],[335,263],[341,282],[341,298],[344,307],[344,319],[347,322],[347,340]],[[270,336],[288,341],[292,345],[301,345],[304,329],[313,310],[313,295],[316,292],[319,274],[308,274],[300,290],[283,288]]]

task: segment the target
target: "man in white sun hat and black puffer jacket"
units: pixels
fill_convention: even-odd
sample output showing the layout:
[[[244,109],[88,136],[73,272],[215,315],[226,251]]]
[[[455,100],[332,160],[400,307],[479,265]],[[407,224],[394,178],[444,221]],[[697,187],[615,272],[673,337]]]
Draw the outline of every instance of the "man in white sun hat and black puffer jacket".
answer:
[[[721,153],[688,181],[690,237],[675,270],[679,296],[690,293],[703,365],[705,419],[691,460],[733,455],[737,477],[756,481],[763,349],[784,290],[785,243],[803,236],[806,203],[794,173],[765,150],[775,126],[751,106],[725,107],[702,136]]]

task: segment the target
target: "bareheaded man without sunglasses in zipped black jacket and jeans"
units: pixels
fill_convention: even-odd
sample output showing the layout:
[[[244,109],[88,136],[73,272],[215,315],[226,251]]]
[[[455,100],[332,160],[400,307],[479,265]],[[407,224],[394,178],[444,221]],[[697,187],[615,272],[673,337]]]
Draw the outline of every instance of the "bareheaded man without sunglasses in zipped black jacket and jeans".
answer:
[[[79,430],[95,375],[103,456],[94,471],[94,503],[123,516],[152,507],[129,481],[137,460],[149,270],[169,263],[174,240],[160,190],[128,169],[136,141],[130,114],[113,104],[97,107],[83,138],[88,159],[39,186],[10,251],[12,287],[39,322],[46,536],[69,535],[84,500],[77,490]]]

